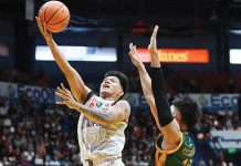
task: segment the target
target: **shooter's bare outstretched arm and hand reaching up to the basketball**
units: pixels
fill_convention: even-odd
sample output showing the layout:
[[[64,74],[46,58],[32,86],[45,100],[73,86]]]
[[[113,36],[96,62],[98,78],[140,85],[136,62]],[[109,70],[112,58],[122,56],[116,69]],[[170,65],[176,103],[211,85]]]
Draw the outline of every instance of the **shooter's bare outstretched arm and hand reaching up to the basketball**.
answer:
[[[70,65],[64,54],[60,51],[57,44],[54,42],[51,32],[46,30],[45,24],[42,24],[40,18],[38,17],[35,20],[40,32],[45,39],[46,44],[50,46],[54,60],[56,61],[61,71],[64,73],[74,97],[77,100],[77,102],[83,103],[91,90],[84,84],[82,77],[75,71],[75,69]]]

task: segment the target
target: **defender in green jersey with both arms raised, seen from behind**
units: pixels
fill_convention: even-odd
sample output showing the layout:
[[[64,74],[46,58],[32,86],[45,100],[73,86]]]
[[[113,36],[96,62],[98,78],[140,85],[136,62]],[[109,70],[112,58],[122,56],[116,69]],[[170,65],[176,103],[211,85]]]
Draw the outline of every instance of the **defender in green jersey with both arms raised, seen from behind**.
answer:
[[[151,73],[148,75],[136,46],[129,44],[129,56],[137,68],[144,95],[160,131],[150,154],[150,166],[190,166],[195,155],[195,143],[188,136],[200,116],[197,103],[188,97],[176,98],[169,105],[164,74],[156,48],[156,25],[148,46],[151,60]]]

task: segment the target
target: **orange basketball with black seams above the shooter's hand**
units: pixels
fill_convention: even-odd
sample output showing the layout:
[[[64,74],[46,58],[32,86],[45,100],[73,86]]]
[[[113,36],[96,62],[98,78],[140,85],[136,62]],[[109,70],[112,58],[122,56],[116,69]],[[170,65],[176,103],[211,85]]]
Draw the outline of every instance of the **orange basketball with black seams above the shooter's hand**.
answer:
[[[63,31],[70,22],[70,11],[67,7],[60,1],[45,2],[39,10],[39,18],[46,29],[52,32]]]

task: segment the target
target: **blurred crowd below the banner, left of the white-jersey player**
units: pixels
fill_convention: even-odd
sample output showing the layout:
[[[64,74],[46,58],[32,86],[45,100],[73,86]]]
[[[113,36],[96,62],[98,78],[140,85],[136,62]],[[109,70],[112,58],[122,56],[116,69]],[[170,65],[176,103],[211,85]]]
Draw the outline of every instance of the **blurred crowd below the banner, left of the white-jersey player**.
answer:
[[[65,106],[1,97],[0,165],[80,165],[77,117]]]

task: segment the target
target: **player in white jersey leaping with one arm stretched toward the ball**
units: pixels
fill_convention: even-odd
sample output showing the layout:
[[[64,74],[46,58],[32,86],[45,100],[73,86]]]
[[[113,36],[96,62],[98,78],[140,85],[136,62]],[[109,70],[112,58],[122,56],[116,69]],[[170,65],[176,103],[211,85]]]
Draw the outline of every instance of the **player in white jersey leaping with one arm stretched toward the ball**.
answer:
[[[118,71],[105,74],[99,96],[84,84],[80,74],[70,65],[51,33],[35,18],[46,44],[64,73],[71,92],[63,84],[57,87],[57,95],[66,104],[81,113],[77,137],[81,148],[81,160],[84,166],[123,166],[122,151],[125,144],[124,129],[130,114],[129,103],[123,100],[128,80]]]

